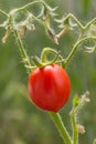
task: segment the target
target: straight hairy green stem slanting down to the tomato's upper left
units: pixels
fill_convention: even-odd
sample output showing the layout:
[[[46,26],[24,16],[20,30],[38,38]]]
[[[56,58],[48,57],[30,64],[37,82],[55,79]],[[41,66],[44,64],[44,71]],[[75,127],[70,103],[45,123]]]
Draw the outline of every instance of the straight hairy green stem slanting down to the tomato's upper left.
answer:
[[[21,41],[21,38],[20,38],[20,35],[19,35],[17,30],[14,30],[14,34],[15,34],[15,39],[17,39],[19,48],[20,48],[20,53],[21,53],[24,66],[25,68],[31,66],[31,63],[30,63],[29,58],[28,58],[28,54],[26,54],[26,52],[24,50],[24,45],[23,45],[23,43]],[[26,70],[28,70],[29,73],[31,72],[30,69],[26,69]]]

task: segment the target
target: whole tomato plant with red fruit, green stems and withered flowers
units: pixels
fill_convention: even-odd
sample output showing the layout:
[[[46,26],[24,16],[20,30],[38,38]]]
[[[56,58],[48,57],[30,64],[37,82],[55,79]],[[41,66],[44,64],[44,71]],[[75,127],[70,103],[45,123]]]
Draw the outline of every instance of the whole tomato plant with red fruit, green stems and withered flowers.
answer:
[[[42,4],[40,14],[36,16],[36,13],[34,14],[34,12],[29,10],[29,7],[32,7],[33,4]],[[0,23],[0,28],[4,28],[6,30],[2,43],[7,42],[11,33],[15,37],[23,64],[30,74],[28,88],[32,102],[40,109],[50,111],[49,114],[55,123],[65,144],[78,144],[78,133],[83,134],[85,130],[84,126],[78,123],[77,114],[85,102],[89,102],[89,99],[87,97],[89,93],[84,93],[81,99],[78,95],[75,95],[73,100],[73,107],[70,113],[72,135],[66,130],[61,115],[56,112],[66,104],[71,93],[71,82],[65,71],[65,66],[71,62],[81,45],[84,48],[85,52],[93,53],[96,51],[96,18],[86,24],[83,24],[72,13],[58,19],[56,17],[57,13],[55,12],[56,8],[57,7],[51,8],[43,0],[34,0],[21,8],[11,10],[9,13],[0,9],[0,14],[7,18],[6,21]],[[23,19],[21,19],[21,13]],[[57,29],[60,30],[57,33],[54,27],[52,27],[52,20],[57,24]],[[41,58],[35,55],[31,59],[28,55],[22,37],[25,34],[26,30],[35,30],[35,22],[44,28],[45,33],[55,44],[60,44],[58,39],[67,31],[77,30],[77,32],[75,32],[75,34],[77,34],[76,42],[71,48],[71,52],[66,58],[51,48],[43,48]],[[38,39],[35,40],[38,41]],[[92,41],[92,43],[88,41]],[[54,55],[52,61],[47,60],[49,54]],[[55,63],[60,63],[62,66]],[[96,144],[96,140],[94,141],[94,144]]]

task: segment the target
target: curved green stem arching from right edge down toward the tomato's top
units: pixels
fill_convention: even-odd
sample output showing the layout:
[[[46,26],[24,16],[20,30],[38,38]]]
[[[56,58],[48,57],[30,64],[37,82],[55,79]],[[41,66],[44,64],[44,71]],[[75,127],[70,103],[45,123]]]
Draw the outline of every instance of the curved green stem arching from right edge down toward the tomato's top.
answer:
[[[94,40],[94,41],[96,41],[96,37],[86,37],[86,38],[79,39],[79,40],[74,44],[74,47],[73,47],[71,53],[70,53],[68,56],[66,58],[65,66],[70,63],[70,61],[72,60],[72,58],[73,58],[74,54],[76,53],[77,48],[79,47],[79,44],[82,44],[84,41],[87,41],[87,40]]]

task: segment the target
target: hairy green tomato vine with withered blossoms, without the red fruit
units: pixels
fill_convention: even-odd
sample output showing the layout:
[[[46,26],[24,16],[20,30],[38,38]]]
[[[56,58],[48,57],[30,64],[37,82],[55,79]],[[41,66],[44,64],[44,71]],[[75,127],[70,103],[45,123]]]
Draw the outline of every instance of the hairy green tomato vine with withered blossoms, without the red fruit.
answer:
[[[29,8],[33,4],[42,6],[42,10],[39,16],[34,16],[32,12],[29,11]],[[25,20],[17,22],[17,16],[19,16],[21,11],[26,14]],[[3,43],[7,42],[10,33],[13,33],[13,35],[15,35],[15,40],[19,44],[21,58],[23,60],[23,64],[26,68],[29,74],[36,68],[44,68],[50,64],[60,64],[65,69],[65,66],[71,62],[72,58],[77,52],[79,45],[82,45],[85,41],[90,40],[94,42],[94,47],[92,48],[86,47],[87,52],[96,51],[96,35],[93,34],[90,31],[92,28],[93,31],[96,32],[96,18],[94,18],[92,21],[83,25],[82,22],[72,13],[67,14],[66,17],[63,17],[60,20],[56,19],[55,11],[56,8],[51,8],[43,0],[35,0],[21,8],[13,9],[9,13],[0,9],[0,14],[7,18],[7,20],[0,24],[0,28],[6,29],[6,33],[2,38],[2,42]],[[57,22],[58,25],[62,28],[62,30],[58,33],[55,33],[55,31],[51,28],[51,18],[55,22]],[[67,31],[70,31],[71,29],[75,30],[74,27],[78,27],[79,29],[78,38],[74,43],[72,51],[68,53],[66,58],[63,58],[61,52],[57,52],[52,48],[44,48],[42,50],[41,58],[33,56],[32,61],[34,62],[34,64],[33,65],[31,64],[31,61],[29,59],[29,55],[25,52],[21,37],[25,34],[26,29],[30,31],[35,30],[34,21],[45,29],[45,32],[49,34],[49,37],[52,39],[52,41],[55,44],[58,44],[58,39],[63,37]],[[51,53],[54,55],[54,59],[52,61],[49,61],[47,54]],[[61,133],[66,144],[78,144],[78,133],[79,133],[78,126],[82,128],[81,132],[84,132],[84,127],[77,124],[76,116],[81,107],[83,107],[83,104],[89,101],[87,95],[88,92],[82,95],[81,99],[77,97],[74,99],[73,109],[71,111],[71,121],[73,127],[72,136],[68,134],[64,123],[62,122],[60,114],[54,112],[49,112],[50,116],[53,119],[53,122],[55,123],[58,132]],[[94,141],[94,143],[96,142]]]

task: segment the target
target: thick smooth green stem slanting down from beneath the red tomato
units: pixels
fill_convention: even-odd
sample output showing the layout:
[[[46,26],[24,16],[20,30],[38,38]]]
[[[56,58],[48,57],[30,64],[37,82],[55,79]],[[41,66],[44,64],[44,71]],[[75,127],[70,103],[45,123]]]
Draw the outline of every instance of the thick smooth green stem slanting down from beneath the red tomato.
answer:
[[[63,141],[65,142],[65,144],[72,144],[72,140],[71,136],[68,135],[64,123],[62,122],[62,119],[58,113],[53,113],[53,112],[49,112],[50,116],[52,117],[54,124],[56,125]]]

